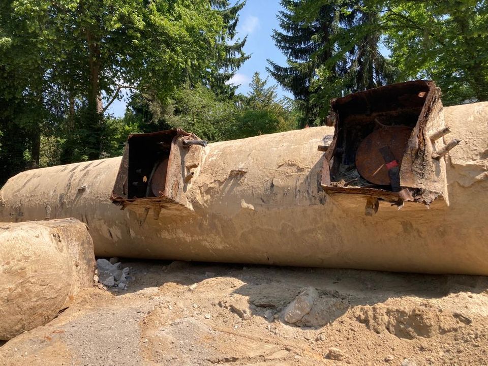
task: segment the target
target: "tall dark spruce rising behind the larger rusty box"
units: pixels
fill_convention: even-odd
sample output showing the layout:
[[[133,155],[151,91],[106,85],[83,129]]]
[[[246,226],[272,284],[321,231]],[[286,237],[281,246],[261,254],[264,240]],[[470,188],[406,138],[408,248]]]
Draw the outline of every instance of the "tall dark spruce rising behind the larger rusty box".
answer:
[[[393,80],[379,51],[379,6],[370,3],[282,0],[283,32],[275,30],[273,39],[288,66],[268,60],[268,71],[299,102],[302,127],[322,124],[330,99]]]

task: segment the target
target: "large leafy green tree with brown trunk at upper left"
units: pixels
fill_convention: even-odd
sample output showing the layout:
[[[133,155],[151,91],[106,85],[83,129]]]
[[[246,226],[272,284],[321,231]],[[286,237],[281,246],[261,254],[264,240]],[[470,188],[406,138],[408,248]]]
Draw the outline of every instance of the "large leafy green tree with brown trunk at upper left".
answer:
[[[223,28],[208,0],[6,0],[0,10],[6,72],[25,75],[20,93],[48,117],[80,106],[88,159],[101,155],[103,113],[120,90],[164,100],[189,75],[202,79]]]

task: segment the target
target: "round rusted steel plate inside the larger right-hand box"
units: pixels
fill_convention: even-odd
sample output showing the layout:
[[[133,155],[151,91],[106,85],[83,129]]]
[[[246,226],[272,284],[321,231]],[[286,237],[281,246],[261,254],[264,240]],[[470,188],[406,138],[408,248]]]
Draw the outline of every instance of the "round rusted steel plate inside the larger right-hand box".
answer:
[[[380,149],[388,146],[391,153],[402,165],[408,139],[412,133],[409,127],[385,127],[376,130],[362,140],[356,152],[356,168],[359,174],[373,184],[390,185],[386,162]]]

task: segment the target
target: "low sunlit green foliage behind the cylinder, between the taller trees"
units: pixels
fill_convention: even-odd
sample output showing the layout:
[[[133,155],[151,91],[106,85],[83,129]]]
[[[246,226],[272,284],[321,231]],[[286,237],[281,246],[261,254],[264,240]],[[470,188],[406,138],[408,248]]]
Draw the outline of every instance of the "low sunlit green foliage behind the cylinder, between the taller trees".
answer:
[[[245,138],[288,131],[297,127],[293,108],[276,100],[276,86],[267,86],[258,73],[250,83],[248,96],[222,99],[211,89],[197,84],[178,90],[167,103],[136,95],[126,112],[126,123],[143,132],[181,128],[208,141]]]

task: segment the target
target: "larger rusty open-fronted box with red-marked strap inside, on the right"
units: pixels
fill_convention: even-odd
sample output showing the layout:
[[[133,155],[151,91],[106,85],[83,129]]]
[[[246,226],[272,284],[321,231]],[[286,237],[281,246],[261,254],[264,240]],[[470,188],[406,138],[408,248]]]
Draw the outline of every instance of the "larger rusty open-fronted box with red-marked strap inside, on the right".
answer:
[[[445,166],[432,159],[444,127],[440,91],[432,81],[410,81],[331,101],[335,133],[324,154],[322,187],[391,202],[446,198]]]

